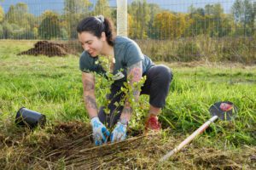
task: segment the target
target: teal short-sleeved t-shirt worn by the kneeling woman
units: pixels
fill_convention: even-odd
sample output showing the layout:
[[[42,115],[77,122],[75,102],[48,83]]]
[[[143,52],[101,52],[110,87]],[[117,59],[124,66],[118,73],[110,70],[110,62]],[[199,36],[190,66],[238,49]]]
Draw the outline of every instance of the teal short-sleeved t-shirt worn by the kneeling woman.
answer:
[[[113,43],[115,64],[113,68],[113,77],[116,77],[114,83],[122,85],[126,81],[127,68],[143,61],[143,74],[154,65],[148,56],[144,55],[141,48],[138,47],[137,42],[134,42],[128,37],[116,37]],[[81,71],[92,72],[105,75],[101,63],[98,62],[98,57],[92,57],[84,51],[79,60],[79,67]],[[120,76],[121,75],[121,76]]]

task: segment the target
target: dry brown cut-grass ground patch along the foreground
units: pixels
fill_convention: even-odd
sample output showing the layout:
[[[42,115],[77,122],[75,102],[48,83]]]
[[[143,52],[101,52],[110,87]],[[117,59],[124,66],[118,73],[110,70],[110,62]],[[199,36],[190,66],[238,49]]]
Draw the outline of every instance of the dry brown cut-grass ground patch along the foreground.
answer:
[[[130,130],[129,133],[130,138],[123,142],[95,146],[90,125],[82,122],[56,122],[36,132],[9,127],[5,132],[0,130],[0,169],[255,168],[254,146],[218,150],[192,143],[169,161],[159,163],[160,157],[185,137],[177,139],[171,133],[164,137],[164,132],[143,134]]]

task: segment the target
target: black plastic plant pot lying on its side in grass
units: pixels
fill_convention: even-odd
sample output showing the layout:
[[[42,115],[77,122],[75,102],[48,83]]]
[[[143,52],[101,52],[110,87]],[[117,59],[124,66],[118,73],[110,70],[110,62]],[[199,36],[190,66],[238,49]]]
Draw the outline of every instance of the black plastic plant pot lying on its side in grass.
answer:
[[[17,112],[15,123],[19,126],[35,128],[35,127],[44,127],[46,122],[46,116],[37,111],[31,111],[25,107],[21,107]]]

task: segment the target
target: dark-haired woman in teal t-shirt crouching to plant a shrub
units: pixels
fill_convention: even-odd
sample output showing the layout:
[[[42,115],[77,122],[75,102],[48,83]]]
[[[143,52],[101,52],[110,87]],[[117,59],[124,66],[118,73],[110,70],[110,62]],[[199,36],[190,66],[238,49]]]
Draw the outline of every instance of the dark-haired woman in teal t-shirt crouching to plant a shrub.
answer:
[[[108,127],[115,125],[111,133],[111,141],[122,141],[126,138],[126,129],[131,120],[132,108],[128,99],[125,105],[116,106],[124,96],[119,90],[127,77],[131,78],[129,83],[139,82],[143,76],[147,79],[143,84],[141,93],[135,89],[134,98],[140,94],[149,95],[149,113],[146,121],[146,129],[160,130],[158,115],[161,108],[166,104],[166,96],[172,81],[172,71],[165,65],[154,65],[148,56],[141,52],[137,43],[127,37],[115,36],[112,22],[104,17],[88,17],[79,22],[77,27],[79,42],[84,48],[81,54],[79,66],[82,71],[82,82],[84,87],[85,108],[90,116],[90,123],[93,129],[95,144],[106,143],[109,131],[103,124],[108,123]],[[93,72],[104,75],[106,71],[98,62],[99,55],[112,60],[113,84],[111,94],[108,95],[110,104],[108,109],[110,114],[104,112],[102,107],[97,110],[95,96],[95,77]]]

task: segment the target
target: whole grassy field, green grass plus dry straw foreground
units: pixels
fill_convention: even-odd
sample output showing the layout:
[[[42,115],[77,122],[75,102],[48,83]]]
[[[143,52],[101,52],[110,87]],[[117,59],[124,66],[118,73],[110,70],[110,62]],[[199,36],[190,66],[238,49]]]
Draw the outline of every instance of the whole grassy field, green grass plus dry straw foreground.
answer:
[[[0,42],[0,169],[253,169],[256,168],[256,66],[235,63],[166,63],[174,79],[160,133],[143,133],[148,97],[142,96],[129,139],[95,147],[84,110],[79,57],[18,56],[32,41]],[[101,105],[108,81],[97,79]],[[168,161],[158,160],[230,100],[231,122],[217,121]],[[44,128],[15,126],[25,106],[47,116]]]

